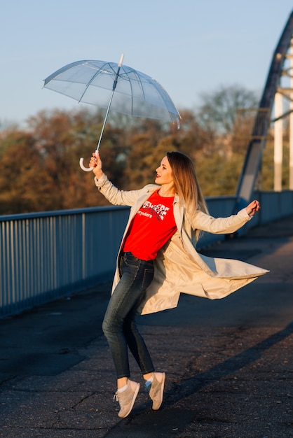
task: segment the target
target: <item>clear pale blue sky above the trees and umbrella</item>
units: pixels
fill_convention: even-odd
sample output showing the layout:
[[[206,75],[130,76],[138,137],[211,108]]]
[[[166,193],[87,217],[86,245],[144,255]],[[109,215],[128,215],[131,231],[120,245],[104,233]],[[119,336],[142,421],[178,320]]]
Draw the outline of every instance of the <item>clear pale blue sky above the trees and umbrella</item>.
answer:
[[[292,0],[1,0],[0,122],[78,104],[43,79],[79,59],[152,76],[177,108],[241,85],[261,93]]]

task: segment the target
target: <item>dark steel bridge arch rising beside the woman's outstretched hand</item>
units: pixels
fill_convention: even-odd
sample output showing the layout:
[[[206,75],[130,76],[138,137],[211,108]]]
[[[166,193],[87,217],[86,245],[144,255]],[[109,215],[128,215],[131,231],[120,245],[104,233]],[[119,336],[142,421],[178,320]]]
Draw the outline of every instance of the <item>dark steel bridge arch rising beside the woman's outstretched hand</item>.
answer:
[[[287,50],[293,37],[293,10],[289,15],[287,23],[275,52],[271,67],[268,71],[266,85],[262,94],[257,115],[252,129],[252,139],[248,144],[245,162],[242,173],[239,178],[238,188],[236,190],[237,205],[239,209],[243,204],[247,204],[252,197],[255,181],[261,167],[262,151],[266,144],[266,135],[271,124],[271,109],[273,107],[275,92],[278,90],[282,67],[286,59]]]

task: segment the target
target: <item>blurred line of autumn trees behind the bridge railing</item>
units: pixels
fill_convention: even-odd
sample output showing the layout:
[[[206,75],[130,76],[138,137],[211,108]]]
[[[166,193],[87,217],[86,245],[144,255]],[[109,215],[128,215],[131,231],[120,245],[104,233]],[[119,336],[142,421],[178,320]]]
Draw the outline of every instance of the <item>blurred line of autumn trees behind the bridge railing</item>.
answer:
[[[195,162],[206,197],[234,195],[257,95],[233,86],[203,94],[201,100],[197,110],[179,111],[180,129],[158,120],[111,113],[100,148],[109,179],[124,190],[153,183],[161,158],[168,150],[179,150]],[[243,108],[247,111],[239,118],[238,110]],[[103,120],[104,113],[92,108],[40,111],[27,120],[25,129],[13,126],[0,132],[0,214],[107,205],[95,189],[93,174],[79,167],[79,158],[87,163],[95,150]],[[273,187],[272,155],[268,136],[264,190]]]

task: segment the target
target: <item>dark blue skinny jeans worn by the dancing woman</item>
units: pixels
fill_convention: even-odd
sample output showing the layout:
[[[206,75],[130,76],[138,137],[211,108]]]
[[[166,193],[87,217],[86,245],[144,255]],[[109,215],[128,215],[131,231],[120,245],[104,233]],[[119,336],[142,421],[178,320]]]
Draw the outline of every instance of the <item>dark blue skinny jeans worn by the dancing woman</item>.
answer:
[[[117,379],[130,377],[128,347],[142,374],[154,372],[151,356],[135,323],[137,308],[154,277],[154,262],[139,260],[131,253],[124,253],[120,275],[121,279],[111,295],[102,325],[113,356]]]

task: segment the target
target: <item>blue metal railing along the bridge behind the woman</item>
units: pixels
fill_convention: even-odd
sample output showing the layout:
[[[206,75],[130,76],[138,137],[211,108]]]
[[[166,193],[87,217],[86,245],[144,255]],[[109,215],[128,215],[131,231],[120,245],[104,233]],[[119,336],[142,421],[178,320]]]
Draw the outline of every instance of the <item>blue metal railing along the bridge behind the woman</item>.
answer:
[[[293,214],[293,192],[259,192],[261,211],[243,227]],[[235,197],[210,197],[212,216],[229,216]],[[128,207],[0,216],[0,318],[111,280]],[[225,239],[205,234],[200,247]]]

